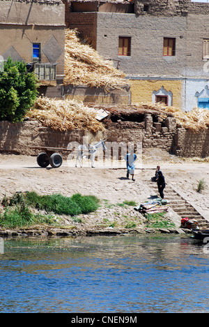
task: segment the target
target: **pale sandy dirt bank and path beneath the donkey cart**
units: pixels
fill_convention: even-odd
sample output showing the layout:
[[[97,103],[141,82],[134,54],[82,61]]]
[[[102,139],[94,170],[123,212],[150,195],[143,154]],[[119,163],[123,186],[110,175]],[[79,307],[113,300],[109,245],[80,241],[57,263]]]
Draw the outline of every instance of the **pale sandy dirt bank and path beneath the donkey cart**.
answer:
[[[95,168],[75,168],[74,162],[64,160],[59,168],[40,168],[36,157],[15,154],[0,154],[1,191],[10,196],[15,191],[36,191],[38,194],[60,193],[71,196],[93,194],[108,203],[123,201],[143,203],[153,190],[150,178],[155,168],[160,166],[167,184],[192,203],[209,221],[209,160],[180,159],[159,149],[144,150],[138,156],[135,181],[127,180],[125,161],[117,168],[105,168],[96,163]],[[206,188],[198,193],[199,180],[204,180]]]

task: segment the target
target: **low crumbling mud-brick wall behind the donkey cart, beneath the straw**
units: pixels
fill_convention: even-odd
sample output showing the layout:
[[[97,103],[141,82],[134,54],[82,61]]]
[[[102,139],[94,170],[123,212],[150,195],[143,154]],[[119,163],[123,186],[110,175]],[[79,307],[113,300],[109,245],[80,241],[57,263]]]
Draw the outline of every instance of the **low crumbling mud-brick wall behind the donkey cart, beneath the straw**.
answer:
[[[37,155],[33,146],[67,147],[75,141],[83,143],[84,131],[54,131],[36,120],[20,123],[0,122],[0,152]],[[176,119],[153,122],[152,115],[145,115],[143,122],[107,123],[104,137],[108,142],[142,143],[142,148],[157,147],[180,157],[208,157],[209,129],[194,133],[176,129]],[[63,157],[68,152],[63,152]]]

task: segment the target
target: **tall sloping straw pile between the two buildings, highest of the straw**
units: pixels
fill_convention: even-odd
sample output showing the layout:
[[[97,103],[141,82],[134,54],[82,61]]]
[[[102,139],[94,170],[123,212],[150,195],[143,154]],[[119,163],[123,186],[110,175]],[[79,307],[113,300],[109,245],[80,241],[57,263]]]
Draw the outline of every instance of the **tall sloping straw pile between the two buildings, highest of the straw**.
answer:
[[[106,90],[127,85],[125,73],[104,60],[90,45],[79,41],[75,29],[65,30],[65,85],[86,85]]]

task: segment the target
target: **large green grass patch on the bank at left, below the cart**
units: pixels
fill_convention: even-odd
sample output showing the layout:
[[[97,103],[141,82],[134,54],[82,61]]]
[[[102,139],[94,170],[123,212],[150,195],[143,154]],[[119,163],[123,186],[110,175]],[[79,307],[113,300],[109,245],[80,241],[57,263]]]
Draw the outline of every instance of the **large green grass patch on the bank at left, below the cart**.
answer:
[[[33,224],[57,224],[52,215],[87,214],[98,209],[100,203],[95,196],[75,194],[71,197],[61,194],[40,196],[36,192],[15,193],[12,197],[4,197],[4,212],[0,215],[0,226],[16,228]],[[36,212],[35,210],[36,209]],[[44,210],[45,213],[37,213]]]

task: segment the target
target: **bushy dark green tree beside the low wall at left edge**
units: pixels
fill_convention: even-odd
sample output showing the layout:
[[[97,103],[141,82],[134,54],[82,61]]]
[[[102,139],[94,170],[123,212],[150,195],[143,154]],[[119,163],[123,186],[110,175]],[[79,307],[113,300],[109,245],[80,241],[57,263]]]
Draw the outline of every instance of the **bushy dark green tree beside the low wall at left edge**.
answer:
[[[38,95],[37,79],[26,64],[9,57],[0,73],[0,120],[21,122]]]

